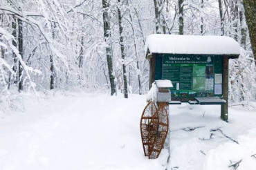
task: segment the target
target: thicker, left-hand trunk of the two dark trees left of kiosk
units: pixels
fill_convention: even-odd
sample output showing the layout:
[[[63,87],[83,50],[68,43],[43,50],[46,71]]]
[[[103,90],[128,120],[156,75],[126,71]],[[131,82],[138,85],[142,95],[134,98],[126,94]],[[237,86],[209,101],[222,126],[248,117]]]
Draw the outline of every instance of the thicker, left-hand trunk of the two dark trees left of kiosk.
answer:
[[[109,44],[109,31],[110,31],[110,26],[109,26],[109,15],[107,10],[109,10],[109,2],[108,0],[102,0],[102,6],[103,6],[103,22],[104,22],[104,39],[105,42],[107,43],[106,47],[106,53],[107,53],[107,67],[109,69],[109,81],[110,81],[110,87],[111,87],[111,95],[116,93],[116,88],[115,88],[115,77],[113,76],[113,61],[112,61],[112,54],[111,54],[111,47]]]

